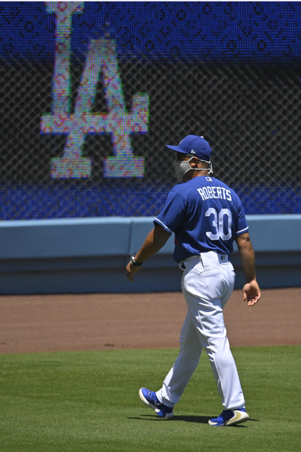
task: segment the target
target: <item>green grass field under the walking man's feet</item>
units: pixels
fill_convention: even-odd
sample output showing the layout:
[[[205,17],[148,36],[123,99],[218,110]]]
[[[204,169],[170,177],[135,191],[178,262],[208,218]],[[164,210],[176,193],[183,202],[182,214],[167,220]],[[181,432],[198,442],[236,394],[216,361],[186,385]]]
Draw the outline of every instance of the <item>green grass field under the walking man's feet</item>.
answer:
[[[232,352],[250,420],[221,428],[205,353],[170,421],[138,390],[161,387],[176,349],[0,355],[0,451],[300,451],[301,346]]]

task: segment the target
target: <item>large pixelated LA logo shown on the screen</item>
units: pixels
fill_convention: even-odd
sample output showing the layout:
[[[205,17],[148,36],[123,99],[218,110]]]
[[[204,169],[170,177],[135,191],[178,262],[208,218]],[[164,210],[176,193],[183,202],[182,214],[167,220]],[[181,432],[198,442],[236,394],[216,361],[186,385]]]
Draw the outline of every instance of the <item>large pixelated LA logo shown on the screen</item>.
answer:
[[[144,176],[144,157],[133,155],[131,135],[148,132],[149,95],[135,93],[130,113],[126,111],[116,42],[91,39],[71,113],[71,33],[72,16],[83,12],[84,2],[46,2],[55,14],[55,64],[52,79],[51,113],[41,117],[41,133],[67,135],[62,157],[51,159],[51,178],[87,178],[92,175],[92,159],[83,157],[88,134],[111,134],[113,157],[104,157],[103,177]],[[102,77],[107,113],[93,113],[97,84]]]

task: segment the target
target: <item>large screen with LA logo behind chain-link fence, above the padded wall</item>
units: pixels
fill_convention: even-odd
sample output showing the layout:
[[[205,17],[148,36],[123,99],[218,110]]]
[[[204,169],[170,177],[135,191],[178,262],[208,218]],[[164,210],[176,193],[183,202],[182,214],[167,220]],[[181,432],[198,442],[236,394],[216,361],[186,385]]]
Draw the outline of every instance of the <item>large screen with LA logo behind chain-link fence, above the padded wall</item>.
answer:
[[[246,214],[300,214],[300,24],[300,2],[0,2],[0,219],[157,215],[190,133]]]

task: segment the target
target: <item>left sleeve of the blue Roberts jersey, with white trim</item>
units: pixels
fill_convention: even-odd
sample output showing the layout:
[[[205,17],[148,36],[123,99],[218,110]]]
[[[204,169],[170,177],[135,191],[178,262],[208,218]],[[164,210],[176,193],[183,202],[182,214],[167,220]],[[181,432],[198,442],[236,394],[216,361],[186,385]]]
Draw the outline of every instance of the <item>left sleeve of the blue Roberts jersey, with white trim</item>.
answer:
[[[171,235],[185,217],[186,209],[186,200],[179,193],[171,190],[162,212],[154,219],[154,223],[162,226]]]

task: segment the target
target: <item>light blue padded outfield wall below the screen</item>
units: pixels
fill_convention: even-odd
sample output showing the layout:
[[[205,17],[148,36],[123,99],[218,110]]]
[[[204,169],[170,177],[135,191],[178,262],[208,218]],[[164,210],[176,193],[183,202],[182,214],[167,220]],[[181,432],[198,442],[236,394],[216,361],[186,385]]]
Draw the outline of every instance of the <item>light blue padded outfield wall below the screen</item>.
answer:
[[[247,217],[260,287],[301,284],[301,215]],[[153,228],[152,217],[0,222],[0,293],[161,292],[181,290],[174,237],[132,283],[125,266]],[[236,288],[244,276],[236,245]],[[285,300],[284,300],[285,302]]]

